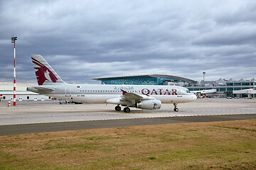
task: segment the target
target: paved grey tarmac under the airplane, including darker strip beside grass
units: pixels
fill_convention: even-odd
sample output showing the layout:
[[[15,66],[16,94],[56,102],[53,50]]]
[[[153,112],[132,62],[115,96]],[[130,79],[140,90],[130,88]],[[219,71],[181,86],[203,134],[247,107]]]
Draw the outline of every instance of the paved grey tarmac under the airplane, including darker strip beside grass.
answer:
[[[58,101],[18,101],[16,106],[0,102],[0,135],[51,132],[86,128],[156,125],[224,120],[256,119],[256,100],[245,98],[198,98],[191,103],[162,104],[148,111],[131,108],[114,111],[114,105],[59,104]]]

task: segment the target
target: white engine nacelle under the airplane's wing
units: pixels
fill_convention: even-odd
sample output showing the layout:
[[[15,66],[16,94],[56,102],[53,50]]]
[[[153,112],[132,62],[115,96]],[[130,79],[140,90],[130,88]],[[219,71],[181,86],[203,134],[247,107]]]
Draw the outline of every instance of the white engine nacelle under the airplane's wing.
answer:
[[[161,101],[159,100],[146,100],[135,103],[135,108],[142,108],[147,110],[156,110],[161,108]]]

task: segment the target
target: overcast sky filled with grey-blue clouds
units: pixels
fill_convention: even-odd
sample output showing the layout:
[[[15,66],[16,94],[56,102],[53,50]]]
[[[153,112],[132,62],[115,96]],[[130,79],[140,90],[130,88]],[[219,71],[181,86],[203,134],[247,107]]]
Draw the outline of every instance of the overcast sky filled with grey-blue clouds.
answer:
[[[31,55],[60,77],[256,77],[256,1],[0,0],[0,91],[37,85]]]

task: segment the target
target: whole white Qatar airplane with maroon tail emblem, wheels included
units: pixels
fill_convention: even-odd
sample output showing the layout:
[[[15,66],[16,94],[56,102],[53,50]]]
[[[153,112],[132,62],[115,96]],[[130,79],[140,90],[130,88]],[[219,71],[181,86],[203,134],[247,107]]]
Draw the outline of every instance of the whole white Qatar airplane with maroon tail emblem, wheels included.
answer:
[[[110,85],[110,84],[68,84],[50,67],[41,55],[31,55],[38,86],[29,86],[27,91],[77,103],[114,104],[115,111],[129,113],[130,108],[156,110],[162,103],[178,103],[196,100],[196,95],[182,86],[156,85]]]

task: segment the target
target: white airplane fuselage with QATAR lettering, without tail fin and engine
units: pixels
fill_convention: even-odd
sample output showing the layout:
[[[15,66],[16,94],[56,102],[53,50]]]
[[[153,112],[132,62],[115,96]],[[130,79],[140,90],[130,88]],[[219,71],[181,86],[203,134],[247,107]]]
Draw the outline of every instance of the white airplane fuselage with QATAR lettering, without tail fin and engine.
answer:
[[[42,86],[53,91],[44,91],[29,87],[29,91],[46,94],[55,98],[81,103],[107,103],[110,98],[122,96],[122,90],[127,93],[154,97],[161,103],[187,103],[196,100],[196,96],[181,86],[154,85],[102,85],[102,84],[56,84]]]

